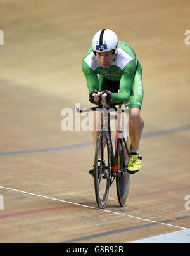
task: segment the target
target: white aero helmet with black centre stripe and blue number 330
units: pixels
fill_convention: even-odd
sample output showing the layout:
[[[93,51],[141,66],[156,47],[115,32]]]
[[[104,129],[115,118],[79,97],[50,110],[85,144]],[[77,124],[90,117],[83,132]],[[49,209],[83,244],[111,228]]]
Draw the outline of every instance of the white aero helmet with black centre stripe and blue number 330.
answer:
[[[92,49],[94,54],[96,52],[102,53],[113,50],[113,54],[117,52],[118,38],[117,35],[110,29],[99,30],[92,39]]]

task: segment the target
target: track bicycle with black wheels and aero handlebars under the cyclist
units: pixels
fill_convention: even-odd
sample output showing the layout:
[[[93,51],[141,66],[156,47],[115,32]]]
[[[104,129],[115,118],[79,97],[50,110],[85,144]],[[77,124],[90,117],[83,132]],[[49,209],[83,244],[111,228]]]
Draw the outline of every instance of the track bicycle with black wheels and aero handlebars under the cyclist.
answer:
[[[80,110],[78,113],[99,111],[103,113],[103,123],[98,133],[96,141],[96,150],[94,157],[94,188],[96,202],[100,209],[105,208],[108,200],[108,194],[113,181],[116,180],[117,197],[121,207],[127,205],[130,187],[130,174],[127,172],[127,163],[129,160],[130,138],[121,124],[122,113],[129,112],[129,108],[122,109],[122,104],[108,103],[109,106],[103,106],[101,102],[98,107]],[[116,115],[111,115],[116,112]],[[115,150],[113,150],[113,141],[111,138],[110,120],[117,120],[117,129],[115,135]],[[98,155],[101,151],[101,164],[98,167]]]

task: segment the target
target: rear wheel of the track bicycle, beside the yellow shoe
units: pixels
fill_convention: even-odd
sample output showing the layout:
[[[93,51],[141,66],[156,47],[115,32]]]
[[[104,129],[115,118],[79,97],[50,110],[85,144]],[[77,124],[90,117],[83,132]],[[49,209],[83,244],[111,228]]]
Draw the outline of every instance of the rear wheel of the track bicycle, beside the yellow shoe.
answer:
[[[124,139],[121,138],[118,144],[118,169],[127,168],[129,160],[129,138],[127,138],[127,141],[124,141]],[[122,172],[121,176],[117,177],[116,184],[118,202],[121,207],[125,207],[127,205],[130,187],[130,174],[127,170]]]

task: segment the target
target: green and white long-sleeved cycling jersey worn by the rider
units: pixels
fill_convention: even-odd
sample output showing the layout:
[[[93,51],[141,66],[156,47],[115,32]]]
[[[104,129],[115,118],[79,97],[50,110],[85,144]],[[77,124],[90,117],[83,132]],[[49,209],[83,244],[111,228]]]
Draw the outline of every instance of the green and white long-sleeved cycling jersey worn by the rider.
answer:
[[[103,77],[106,77],[108,80],[120,81],[120,91],[119,93],[113,93],[113,102],[125,101],[127,103],[130,99],[137,70],[136,53],[129,44],[119,41],[113,63],[109,68],[103,68],[92,48],[89,48],[82,59],[82,70],[87,80],[89,93],[94,89],[101,91],[101,82]]]

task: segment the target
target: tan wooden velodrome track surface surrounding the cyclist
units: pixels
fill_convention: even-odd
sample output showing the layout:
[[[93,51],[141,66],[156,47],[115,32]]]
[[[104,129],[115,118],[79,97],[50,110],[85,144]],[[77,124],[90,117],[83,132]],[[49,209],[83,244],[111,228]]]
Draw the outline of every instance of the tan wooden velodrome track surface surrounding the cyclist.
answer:
[[[190,228],[190,2],[0,4],[0,242],[124,243]],[[91,106],[81,60],[102,28],[136,50],[145,92],[143,167],[127,207],[113,186],[107,212],[96,208],[88,174],[91,132],[60,125],[63,108]]]

